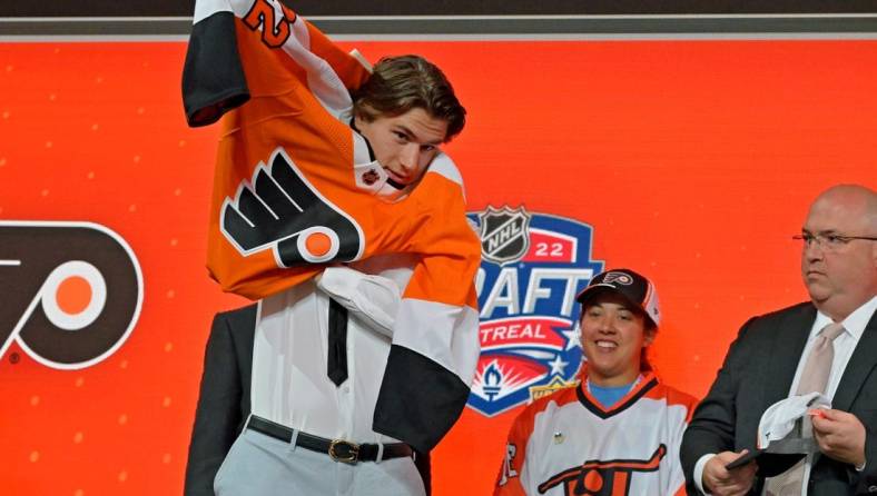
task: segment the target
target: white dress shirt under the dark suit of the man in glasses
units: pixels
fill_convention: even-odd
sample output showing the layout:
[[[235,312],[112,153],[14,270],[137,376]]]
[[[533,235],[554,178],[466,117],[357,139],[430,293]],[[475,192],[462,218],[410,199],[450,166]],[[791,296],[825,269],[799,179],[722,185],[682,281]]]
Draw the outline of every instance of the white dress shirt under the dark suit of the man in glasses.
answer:
[[[825,396],[829,400],[835,397],[835,391],[837,391],[840,378],[844,376],[844,370],[847,368],[847,363],[849,363],[849,358],[853,356],[853,351],[856,349],[856,345],[858,345],[859,338],[863,333],[865,333],[865,327],[868,325],[868,321],[870,321],[875,310],[877,310],[877,296],[854,310],[841,321],[844,325],[844,333],[835,338],[832,344],[835,347],[835,358],[831,361],[831,373],[828,377],[828,384],[826,385],[825,391]],[[798,383],[801,380],[806,357],[809,355],[810,348],[814,347],[819,331],[821,331],[825,326],[831,324],[831,318],[821,311],[816,313],[816,320],[810,328],[810,335],[807,337],[807,344],[804,347],[801,357],[798,359],[798,368],[795,370],[795,379],[792,379],[791,387],[789,387],[789,396],[794,396],[798,390]],[[694,465],[694,484],[698,486],[698,489],[706,495],[710,493],[707,493],[703,488],[703,467],[713,456],[716,456],[716,454],[703,455]],[[804,487],[801,492],[804,496],[807,495],[807,480],[810,479],[810,458],[809,456],[807,457],[807,463],[805,465]]]

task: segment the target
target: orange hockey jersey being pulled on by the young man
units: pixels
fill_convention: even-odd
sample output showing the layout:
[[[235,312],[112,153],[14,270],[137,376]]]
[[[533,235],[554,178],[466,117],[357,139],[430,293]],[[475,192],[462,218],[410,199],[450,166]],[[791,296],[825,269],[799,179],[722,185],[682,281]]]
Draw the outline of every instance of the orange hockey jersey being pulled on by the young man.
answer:
[[[375,430],[432,448],[462,411],[477,359],[481,247],[462,178],[440,155],[403,198],[349,126],[368,71],[276,0],[198,0],[184,69],[190,126],[221,119],[208,268],[256,299],[323,264],[406,252]]]

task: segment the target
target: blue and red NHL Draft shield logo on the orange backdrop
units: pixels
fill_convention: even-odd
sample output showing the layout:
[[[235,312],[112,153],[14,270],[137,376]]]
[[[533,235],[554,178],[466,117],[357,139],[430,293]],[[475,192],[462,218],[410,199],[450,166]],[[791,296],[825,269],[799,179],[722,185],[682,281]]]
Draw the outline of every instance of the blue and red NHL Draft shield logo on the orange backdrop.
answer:
[[[591,260],[587,224],[508,206],[469,218],[483,258],[481,357],[467,405],[490,417],[574,380],[582,360],[575,295],[603,262]]]

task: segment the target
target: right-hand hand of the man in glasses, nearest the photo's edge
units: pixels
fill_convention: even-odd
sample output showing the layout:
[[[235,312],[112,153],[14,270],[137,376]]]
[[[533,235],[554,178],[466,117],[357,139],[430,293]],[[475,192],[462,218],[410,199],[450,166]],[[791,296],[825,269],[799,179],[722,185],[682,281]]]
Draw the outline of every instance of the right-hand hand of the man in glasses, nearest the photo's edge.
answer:
[[[811,419],[820,452],[856,467],[865,463],[865,426],[855,415],[820,408]]]

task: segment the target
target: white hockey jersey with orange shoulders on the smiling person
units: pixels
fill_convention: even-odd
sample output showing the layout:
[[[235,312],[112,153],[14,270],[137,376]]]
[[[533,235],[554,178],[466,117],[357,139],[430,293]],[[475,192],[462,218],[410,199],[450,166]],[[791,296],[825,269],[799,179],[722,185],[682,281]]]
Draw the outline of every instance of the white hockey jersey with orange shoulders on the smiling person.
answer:
[[[679,445],[697,400],[647,373],[605,409],[582,383],[528,406],[495,495],[684,495]]]

